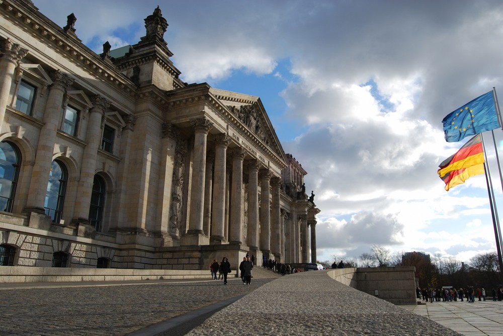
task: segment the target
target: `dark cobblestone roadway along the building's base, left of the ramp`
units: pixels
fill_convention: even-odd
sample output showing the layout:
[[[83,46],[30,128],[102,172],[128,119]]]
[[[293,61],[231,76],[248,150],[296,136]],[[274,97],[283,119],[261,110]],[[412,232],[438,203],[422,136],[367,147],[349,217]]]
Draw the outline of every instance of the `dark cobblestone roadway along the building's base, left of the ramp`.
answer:
[[[238,278],[86,287],[0,288],[0,335],[126,335],[248,294],[274,279]],[[84,284],[84,283],[82,283]]]

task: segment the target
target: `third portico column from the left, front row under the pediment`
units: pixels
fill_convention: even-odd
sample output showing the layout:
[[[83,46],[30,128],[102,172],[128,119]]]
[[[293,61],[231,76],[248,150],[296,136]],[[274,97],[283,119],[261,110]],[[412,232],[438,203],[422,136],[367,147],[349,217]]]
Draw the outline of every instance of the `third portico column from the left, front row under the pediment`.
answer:
[[[243,236],[243,159],[246,152],[232,152],[232,189],[230,192],[229,243],[242,244]]]

